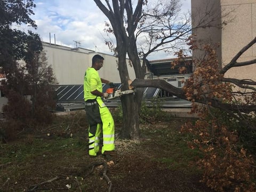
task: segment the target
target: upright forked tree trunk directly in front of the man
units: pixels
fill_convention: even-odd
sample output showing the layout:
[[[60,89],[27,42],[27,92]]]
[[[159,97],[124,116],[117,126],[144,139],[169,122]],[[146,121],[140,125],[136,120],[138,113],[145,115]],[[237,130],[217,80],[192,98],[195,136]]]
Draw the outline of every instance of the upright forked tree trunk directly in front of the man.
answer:
[[[100,0],[94,0],[100,10],[107,16],[116,37],[116,49],[118,53],[118,70],[122,83],[122,91],[128,90],[130,80],[126,53],[132,61],[136,78],[144,78],[145,72],[140,65],[134,31],[137,28],[138,19],[141,17],[141,10],[144,1],[138,1],[137,8],[132,10],[131,1],[105,1],[105,6]],[[112,5],[110,4],[112,2]],[[124,21],[124,13],[127,14],[127,21]],[[126,27],[126,24],[127,27]],[[134,49],[135,48],[135,49]],[[123,126],[121,137],[125,139],[139,140],[139,111],[143,89],[138,89],[134,94],[127,94],[121,97],[123,109]]]

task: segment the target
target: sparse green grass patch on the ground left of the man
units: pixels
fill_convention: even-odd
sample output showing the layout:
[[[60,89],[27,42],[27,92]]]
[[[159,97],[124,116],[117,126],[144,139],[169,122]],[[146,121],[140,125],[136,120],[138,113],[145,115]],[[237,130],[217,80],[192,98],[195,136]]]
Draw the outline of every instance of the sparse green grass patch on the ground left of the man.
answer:
[[[4,171],[0,174],[0,185],[1,183],[3,185],[8,178],[10,178],[10,184],[22,185],[22,178],[28,177],[28,175],[33,178],[31,180],[34,180],[35,183],[39,183],[41,179],[42,181],[47,180],[44,178],[50,179],[53,175],[58,175],[60,166],[75,165],[77,159],[85,155],[85,147],[85,142],[73,138],[58,138],[48,142],[35,139],[33,143],[29,144],[19,142],[1,145],[0,162]],[[46,166],[51,166],[51,168]],[[35,178],[35,175],[41,175],[44,170],[43,175],[46,174],[46,177]]]

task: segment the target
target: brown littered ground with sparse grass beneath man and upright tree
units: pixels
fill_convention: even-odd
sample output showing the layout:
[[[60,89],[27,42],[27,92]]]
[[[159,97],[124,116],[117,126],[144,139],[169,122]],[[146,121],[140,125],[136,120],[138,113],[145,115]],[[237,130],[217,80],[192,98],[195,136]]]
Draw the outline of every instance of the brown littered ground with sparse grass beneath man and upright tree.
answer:
[[[193,152],[177,137],[187,120],[142,124],[141,143],[117,137],[117,155],[110,162],[87,155],[87,124],[81,121],[22,133],[17,141],[1,144],[0,191],[210,192],[193,168],[195,155],[190,159]],[[116,124],[117,133],[120,126]],[[108,162],[109,183],[102,165],[90,166],[102,162]]]

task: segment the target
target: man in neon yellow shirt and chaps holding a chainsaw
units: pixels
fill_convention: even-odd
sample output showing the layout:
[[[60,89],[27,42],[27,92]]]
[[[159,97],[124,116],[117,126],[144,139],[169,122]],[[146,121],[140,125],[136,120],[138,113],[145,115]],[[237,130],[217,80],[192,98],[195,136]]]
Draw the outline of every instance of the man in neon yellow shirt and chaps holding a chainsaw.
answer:
[[[114,119],[102,101],[101,97],[107,98],[108,93],[102,92],[102,83],[113,85],[113,83],[102,79],[98,70],[103,66],[104,58],[101,55],[94,55],[92,67],[85,71],[84,75],[84,100],[85,111],[89,121],[89,155],[96,156],[100,150],[99,137],[102,130],[103,155],[113,155],[115,150],[115,128]]]

